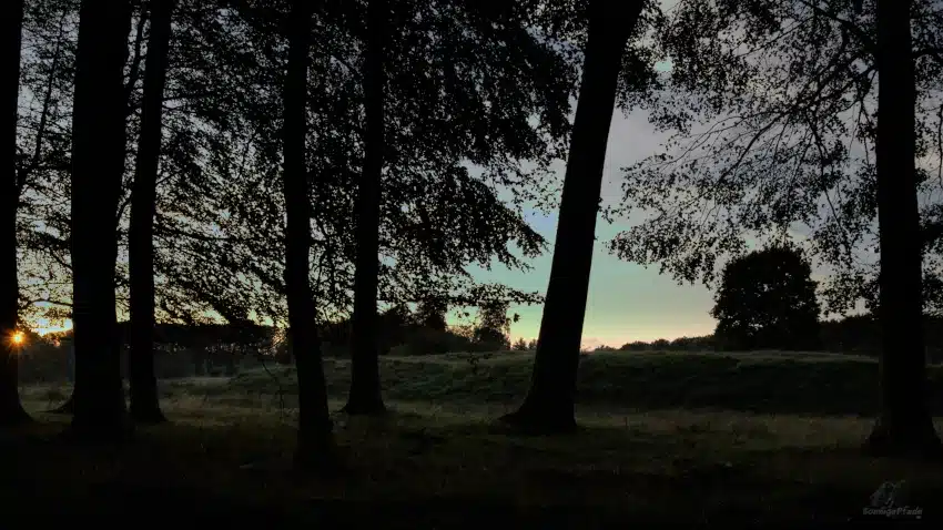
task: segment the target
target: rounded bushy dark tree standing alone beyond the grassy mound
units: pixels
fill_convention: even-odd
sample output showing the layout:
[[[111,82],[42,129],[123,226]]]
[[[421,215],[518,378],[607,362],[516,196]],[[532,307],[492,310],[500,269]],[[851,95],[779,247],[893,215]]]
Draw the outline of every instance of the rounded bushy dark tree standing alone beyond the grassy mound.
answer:
[[[819,302],[812,267],[791,247],[729,262],[710,314],[722,349],[818,349]]]

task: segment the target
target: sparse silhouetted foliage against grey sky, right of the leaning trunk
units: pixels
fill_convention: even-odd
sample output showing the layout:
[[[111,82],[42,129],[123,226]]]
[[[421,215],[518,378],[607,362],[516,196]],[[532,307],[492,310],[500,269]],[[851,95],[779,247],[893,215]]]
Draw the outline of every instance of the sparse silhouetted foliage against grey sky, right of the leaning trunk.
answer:
[[[656,28],[670,58],[662,90],[642,102],[673,135],[625,169],[612,215],[645,214],[610,249],[712,285],[724,258],[753,241],[802,245],[830,275],[829,313],[876,303],[875,2],[685,0]],[[943,19],[931,0],[912,11],[917,159],[924,225],[924,299],[937,310],[939,191],[943,144]],[[808,237],[807,237],[808,236]]]

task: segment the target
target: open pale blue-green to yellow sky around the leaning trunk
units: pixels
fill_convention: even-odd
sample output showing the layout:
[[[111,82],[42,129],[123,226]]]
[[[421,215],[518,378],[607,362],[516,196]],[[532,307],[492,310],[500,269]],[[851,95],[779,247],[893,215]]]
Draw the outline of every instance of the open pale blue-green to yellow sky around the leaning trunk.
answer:
[[[604,202],[619,202],[620,169],[658,152],[667,139],[667,134],[655,131],[645,112],[626,115],[617,109],[606,150]],[[556,170],[562,175],[565,165],[558,163]],[[548,241],[548,249],[529,261],[533,269],[508,271],[500,265],[491,271],[473,268],[476,281],[499,282],[520,291],[546,294],[557,215],[530,211],[527,220]],[[713,305],[712,293],[704,286],[678,285],[670,276],[659,275],[657,266],[645,268],[609,254],[606,242],[627,227],[625,223],[621,226],[610,225],[601,215],[597,222],[582,346],[618,347],[632,340],[650,342],[713,333],[716,320],[708,314]],[[511,325],[511,340],[536,338],[543,305],[511,306],[510,312],[520,315],[520,320]]]

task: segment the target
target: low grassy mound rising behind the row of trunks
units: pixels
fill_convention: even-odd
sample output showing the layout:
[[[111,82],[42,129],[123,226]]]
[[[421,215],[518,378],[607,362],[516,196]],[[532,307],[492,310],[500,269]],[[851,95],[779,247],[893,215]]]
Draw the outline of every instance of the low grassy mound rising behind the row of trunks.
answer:
[[[449,354],[385,357],[384,394],[389,399],[436,405],[510,406],[527,391],[533,354]],[[346,396],[349,361],[326,359],[328,395]],[[943,415],[943,367],[931,367],[931,409]],[[172,396],[193,387],[168,381]],[[873,416],[878,407],[878,364],[829,354],[600,353],[580,364],[579,402],[622,409],[708,408],[765,414]],[[297,395],[292,368],[252,370],[225,384],[206,385],[204,395],[229,402],[255,402]],[[281,393],[281,394],[280,394]]]

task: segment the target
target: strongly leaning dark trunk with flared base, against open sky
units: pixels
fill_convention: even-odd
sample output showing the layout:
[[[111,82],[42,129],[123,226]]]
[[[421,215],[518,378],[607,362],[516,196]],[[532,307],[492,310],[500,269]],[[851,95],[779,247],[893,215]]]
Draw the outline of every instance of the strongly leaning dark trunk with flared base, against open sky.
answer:
[[[602,164],[622,51],[642,3],[639,0],[619,8],[604,0],[589,2],[589,37],[534,374],[524,404],[501,418],[526,431],[552,434],[576,429],[576,378]]]

